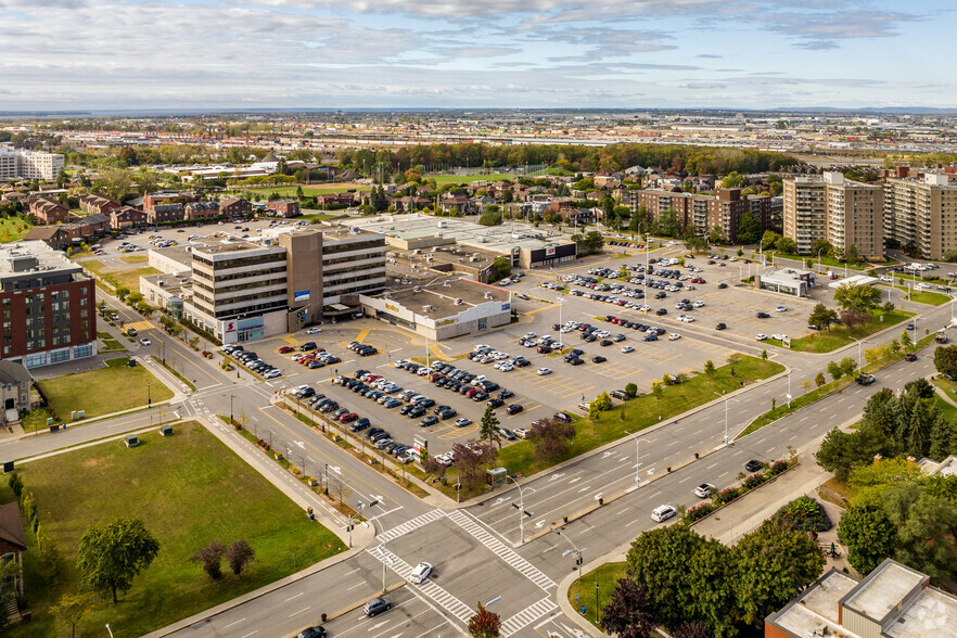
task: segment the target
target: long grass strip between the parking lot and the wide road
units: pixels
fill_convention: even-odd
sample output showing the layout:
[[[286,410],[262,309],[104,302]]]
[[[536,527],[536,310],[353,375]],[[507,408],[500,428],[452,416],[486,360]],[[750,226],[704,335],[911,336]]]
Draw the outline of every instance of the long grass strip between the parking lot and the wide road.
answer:
[[[662,388],[660,401],[653,394],[648,394],[602,412],[597,423],[592,423],[588,419],[578,420],[575,423],[577,435],[571,449],[556,462],[577,457],[627,436],[626,432],[639,432],[661,420],[671,419],[676,414],[714,400],[717,398],[714,393],[733,392],[740,388],[744,381],[766,379],[784,370],[783,366],[775,361],[744,355],[735,356],[739,360],[735,363],[733,377],[731,375],[731,366],[725,365],[715,370],[713,379],[706,374],[698,374],[686,383]],[[626,379],[622,380],[621,385],[627,381]],[[509,472],[520,472],[525,476],[553,464],[539,461],[535,458],[534,451],[535,448],[531,441],[521,441],[503,448],[499,452],[496,463],[507,468]]]

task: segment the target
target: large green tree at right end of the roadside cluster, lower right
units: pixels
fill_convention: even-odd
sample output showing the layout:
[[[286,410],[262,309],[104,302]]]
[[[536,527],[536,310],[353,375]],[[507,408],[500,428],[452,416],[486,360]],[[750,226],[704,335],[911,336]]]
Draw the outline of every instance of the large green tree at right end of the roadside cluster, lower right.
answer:
[[[770,519],[735,548],[737,592],[745,623],[761,622],[820,575],[824,553],[807,533]]]

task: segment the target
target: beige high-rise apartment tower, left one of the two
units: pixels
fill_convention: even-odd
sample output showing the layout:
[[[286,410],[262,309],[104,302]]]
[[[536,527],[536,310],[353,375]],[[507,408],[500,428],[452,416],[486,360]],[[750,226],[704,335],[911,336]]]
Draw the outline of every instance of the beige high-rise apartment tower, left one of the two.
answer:
[[[783,234],[798,252],[809,254],[825,240],[846,254],[854,246],[862,257],[883,256],[883,191],[881,187],[846,179],[840,173],[784,180]]]

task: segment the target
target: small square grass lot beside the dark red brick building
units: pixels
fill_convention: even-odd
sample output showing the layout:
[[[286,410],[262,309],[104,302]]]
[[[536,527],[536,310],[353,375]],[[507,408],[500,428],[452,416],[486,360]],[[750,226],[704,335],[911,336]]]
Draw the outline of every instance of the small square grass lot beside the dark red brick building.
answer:
[[[37,385],[60,421],[68,421],[73,410],[86,411],[89,419],[145,406],[148,398],[156,404],[173,396],[149,370],[127,368],[126,361],[126,357],[110,359],[105,368],[44,379]]]

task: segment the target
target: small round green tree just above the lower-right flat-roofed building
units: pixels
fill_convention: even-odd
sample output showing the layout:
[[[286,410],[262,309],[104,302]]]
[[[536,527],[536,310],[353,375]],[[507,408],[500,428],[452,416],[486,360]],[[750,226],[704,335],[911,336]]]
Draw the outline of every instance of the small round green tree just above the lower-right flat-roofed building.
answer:
[[[894,554],[897,531],[880,502],[852,503],[838,526],[838,539],[847,548],[847,562],[863,575]]]

